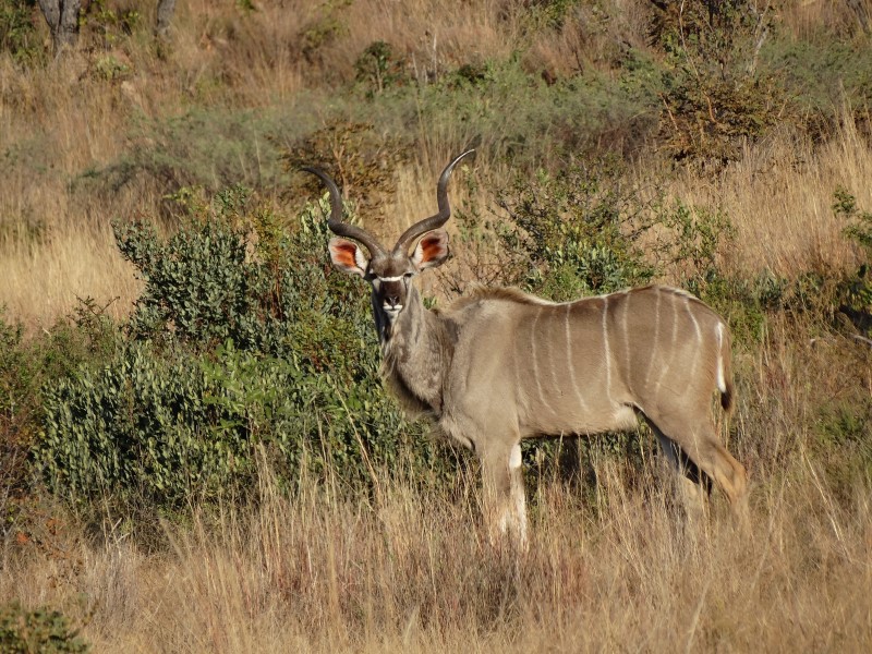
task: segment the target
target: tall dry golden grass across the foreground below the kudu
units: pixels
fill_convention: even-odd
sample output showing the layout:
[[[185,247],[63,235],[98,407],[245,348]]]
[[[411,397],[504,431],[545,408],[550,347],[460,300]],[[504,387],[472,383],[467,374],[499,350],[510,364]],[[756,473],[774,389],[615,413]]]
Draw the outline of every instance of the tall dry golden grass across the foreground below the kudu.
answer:
[[[550,487],[517,560],[474,506],[386,484],[380,500],[268,492],[258,509],[168,528],[145,555],[110,531],[5,553],[0,592],[63,607],[96,652],[868,651],[872,507],[807,459],[758,487],[749,533],[687,525],[614,465],[595,508]]]

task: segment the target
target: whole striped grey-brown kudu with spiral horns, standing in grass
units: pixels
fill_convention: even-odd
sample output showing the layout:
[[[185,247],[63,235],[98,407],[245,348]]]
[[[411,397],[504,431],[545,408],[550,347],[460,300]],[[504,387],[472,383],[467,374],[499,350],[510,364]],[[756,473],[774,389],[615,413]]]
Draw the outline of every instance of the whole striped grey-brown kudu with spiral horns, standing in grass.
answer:
[[[334,181],[304,170],[329,191],[334,265],[372,286],[389,386],[480,458],[492,535],[512,531],[526,544],[522,438],[629,429],[638,414],[679,472],[689,460],[741,513],[746,472],[718,440],[712,415],[715,392],[725,410],[732,401],[730,336],[698,299],[647,286],[556,304],[495,288],[441,311],[424,307],[412,278],[448,257],[446,186],[468,154],[439,177],[438,213],[407,229],[392,250],[343,222]]]

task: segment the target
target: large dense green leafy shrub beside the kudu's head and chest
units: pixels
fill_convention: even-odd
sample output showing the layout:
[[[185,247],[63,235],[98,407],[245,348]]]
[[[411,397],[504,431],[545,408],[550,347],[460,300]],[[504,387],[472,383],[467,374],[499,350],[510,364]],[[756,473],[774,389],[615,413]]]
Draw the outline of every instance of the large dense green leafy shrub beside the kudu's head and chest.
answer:
[[[99,370],[51,382],[35,460],[57,493],[174,509],[280,479],[354,487],[400,459],[451,464],[415,439],[382,387],[366,293],[332,272],[326,199],[291,233],[234,189],[161,242],[117,227],[145,277],[126,342]]]

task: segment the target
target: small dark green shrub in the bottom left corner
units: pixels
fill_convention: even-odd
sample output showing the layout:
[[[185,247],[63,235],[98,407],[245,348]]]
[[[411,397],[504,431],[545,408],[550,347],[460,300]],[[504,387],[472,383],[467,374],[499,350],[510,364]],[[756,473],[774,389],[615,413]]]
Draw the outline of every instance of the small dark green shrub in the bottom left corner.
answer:
[[[89,650],[59,610],[48,607],[28,610],[14,600],[0,605],[0,651],[84,654]]]

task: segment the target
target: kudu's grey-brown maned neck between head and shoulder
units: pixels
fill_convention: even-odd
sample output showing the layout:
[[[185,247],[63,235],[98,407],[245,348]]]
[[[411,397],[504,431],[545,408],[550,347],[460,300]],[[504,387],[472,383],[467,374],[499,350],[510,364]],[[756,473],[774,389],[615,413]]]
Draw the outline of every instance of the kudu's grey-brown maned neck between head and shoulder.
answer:
[[[391,323],[373,302],[376,329],[382,343],[384,373],[407,405],[441,414],[444,371],[453,353],[453,339],[445,320],[424,307],[414,287],[405,307]]]

